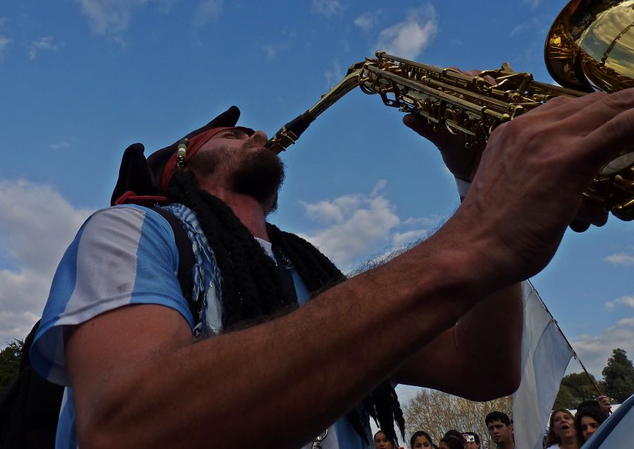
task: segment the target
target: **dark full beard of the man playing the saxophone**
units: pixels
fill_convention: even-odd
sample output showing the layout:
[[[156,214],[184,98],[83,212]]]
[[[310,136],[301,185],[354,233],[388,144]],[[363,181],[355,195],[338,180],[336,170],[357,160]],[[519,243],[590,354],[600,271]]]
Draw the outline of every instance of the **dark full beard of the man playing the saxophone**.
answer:
[[[261,203],[271,202],[271,211],[277,208],[285,167],[282,159],[268,149],[223,147],[198,152],[188,165],[197,177],[228,171],[228,183],[234,192]]]

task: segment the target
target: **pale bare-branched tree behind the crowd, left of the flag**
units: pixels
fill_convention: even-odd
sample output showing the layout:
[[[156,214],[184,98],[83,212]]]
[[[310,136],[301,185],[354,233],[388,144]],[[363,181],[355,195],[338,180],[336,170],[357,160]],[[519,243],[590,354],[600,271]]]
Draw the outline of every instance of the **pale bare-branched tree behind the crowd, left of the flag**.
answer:
[[[499,410],[511,417],[513,400],[511,396],[489,402],[473,402],[437,390],[421,390],[416,398],[405,406],[406,433],[423,430],[430,434],[435,443],[449,429],[461,432],[475,432],[483,443],[489,439],[485,417],[493,410]],[[491,447],[492,444],[490,444]],[[483,445],[485,447],[485,445]]]

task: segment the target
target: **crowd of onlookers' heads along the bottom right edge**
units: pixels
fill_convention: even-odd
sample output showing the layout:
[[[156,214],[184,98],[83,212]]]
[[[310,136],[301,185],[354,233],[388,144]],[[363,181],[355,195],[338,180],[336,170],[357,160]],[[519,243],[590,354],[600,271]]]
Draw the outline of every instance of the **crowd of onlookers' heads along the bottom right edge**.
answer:
[[[548,431],[544,439],[545,449],[580,449],[592,433],[599,428],[610,413],[609,399],[602,395],[597,400],[582,402],[576,414],[560,408],[553,410]],[[494,411],[487,414],[485,424],[488,429],[490,449],[516,449],[513,421],[504,412]],[[375,449],[397,449],[385,431],[374,434]],[[412,433],[410,449],[485,449],[489,448],[481,441],[478,433],[472,431],[449,430],[435,443],[426,431]],[[520,448],[521,449],[521,448]]]

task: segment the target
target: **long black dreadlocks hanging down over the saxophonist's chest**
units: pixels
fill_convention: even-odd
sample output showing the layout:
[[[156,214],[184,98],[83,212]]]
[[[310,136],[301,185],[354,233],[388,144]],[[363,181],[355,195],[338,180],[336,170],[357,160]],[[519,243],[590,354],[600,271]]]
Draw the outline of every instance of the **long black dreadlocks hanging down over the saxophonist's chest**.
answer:
[[[178,171],[170,180],[168,202],[178,202],[192,209],[207,242],[216,257],[222,278],[223,328],[232,330],[266,321],[280,312],[290,312],[297,298],[282,287],[278,267],[263,251],[251,232],[232,209],[209,192],[197,187],[194,174]],[[281,251],[290,259],[311,297],[344,281],[344,274],[316,247],[292,233],[267,223],[273,252]],[[350,424],[369,443],[366,435],[368,417],[373,417],[388,438],[394,441],[394,421],[405,439],[405,423],[394,387],[381,383],[370,395],[347,413]]]

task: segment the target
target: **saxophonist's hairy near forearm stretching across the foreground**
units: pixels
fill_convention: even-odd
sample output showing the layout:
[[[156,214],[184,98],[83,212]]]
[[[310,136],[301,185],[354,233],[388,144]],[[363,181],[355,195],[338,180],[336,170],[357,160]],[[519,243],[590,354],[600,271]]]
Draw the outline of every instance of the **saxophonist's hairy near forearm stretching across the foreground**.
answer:
[[[479,285],[459,268],[464,251],[444,245],[430,239],[267,324],[113,367],[99,400],[73,385],[80,444],[306,443],[477,302],[465,295]],[[72,340],[94,326],[73,335],[71,359]]]

